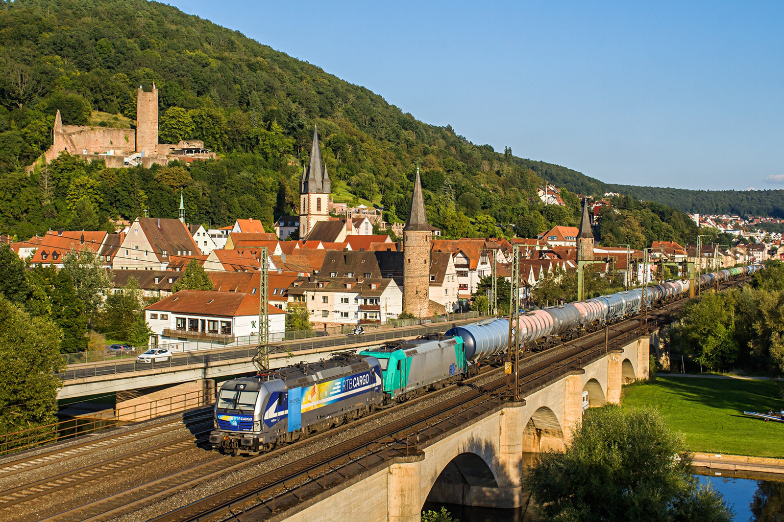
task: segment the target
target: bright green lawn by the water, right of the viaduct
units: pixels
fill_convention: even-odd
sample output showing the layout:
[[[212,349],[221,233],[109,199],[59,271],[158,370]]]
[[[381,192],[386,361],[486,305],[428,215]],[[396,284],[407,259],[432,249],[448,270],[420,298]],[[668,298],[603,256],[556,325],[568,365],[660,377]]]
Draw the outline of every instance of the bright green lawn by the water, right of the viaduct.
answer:
[[[784,423],[743,415],[782,409],[782,391],[771,380],[659,376],[624,387],[622,405],[655,406],[691,451],[784,457]]]

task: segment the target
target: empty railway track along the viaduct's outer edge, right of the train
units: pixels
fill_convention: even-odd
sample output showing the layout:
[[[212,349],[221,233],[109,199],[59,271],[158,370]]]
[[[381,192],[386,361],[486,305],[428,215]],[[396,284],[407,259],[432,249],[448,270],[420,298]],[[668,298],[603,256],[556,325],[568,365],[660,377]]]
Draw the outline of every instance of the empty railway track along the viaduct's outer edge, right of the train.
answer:
[[[720,285],[720,290],[745,283],[746,279],[724,283]],[[684,302],[685,299],[653,308],[644,316],[638,315],[608,326],[606,330],[569,341],[561,345],[566,349],[554,357],[546,356],[554,348],[539,352],[538,355],[543,355],[541,360],[520,370],[519,397],[606,355],[608,351],[639,337],[644,329],[658,327],[662,319],[683,308]],[[183,522],[245,520],[245,517],[248,520],[263,520],[280,509],[287,509],[303,499],[326,491],[329,484],[371,472],[395,456],[412,455],[426,441],[446,434],[470,419],[495,411],[514,398],[514,391],[510,393],[508,380],[501,369],[492,370],[492,373],[499,375],[499,378],[473,387],[456,398],[414,412],[386,426],[370,430],[361,437],[354,437],[151,520]]]

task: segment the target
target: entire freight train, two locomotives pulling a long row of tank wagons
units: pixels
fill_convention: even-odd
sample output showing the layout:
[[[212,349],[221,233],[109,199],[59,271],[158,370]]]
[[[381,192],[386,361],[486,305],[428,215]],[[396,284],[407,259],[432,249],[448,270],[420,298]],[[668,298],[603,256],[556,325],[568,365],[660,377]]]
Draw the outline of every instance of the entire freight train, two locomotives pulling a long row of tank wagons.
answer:
[[[698,287],[753,274],[743,266],[695,278]],[[561,338],[590,326],[602,326],[640,313],[641,309],[688,292],[688,281],[669,281],[585,301],[524,312],[521,344]],[[316,431],[359,419],[376,409],[406,401],[477,373],[506,351],[509,320],[487,319],[425,336],[327,360],[276,369],[223,383],[214,409],[213,448],[234,455],[267,452]]]

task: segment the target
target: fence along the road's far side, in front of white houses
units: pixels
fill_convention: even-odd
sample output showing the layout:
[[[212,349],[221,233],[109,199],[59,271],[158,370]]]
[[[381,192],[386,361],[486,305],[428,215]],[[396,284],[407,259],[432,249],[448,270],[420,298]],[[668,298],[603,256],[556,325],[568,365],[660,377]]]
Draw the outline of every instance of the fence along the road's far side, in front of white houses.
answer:
[[[363,325],[365,330],[373,329],[388,330],[405,328],[407,326],[427,325],[439,322],[461,321],[464,319],[477,319],[485,316],[485,312],[469,311],[463,314],[451,315],[435,315],[423,319],[394,319],[386,323],[375,325]],[[330,328],[309,329],[309,330],[291,330],[285,333],[274,333],[270,335],[270,342],[283,343],[294,340],[304,340],[312,338],[323,338],[330,336],[349,335],[356,325],[343,325],[332,326]],[[247,346],[249,344],[258,344],[258,337],[255,335],[246,335],[241,337],[234,337],[234,340],[226,343],[219,341],[210,342],[208,340],[176,340],[176,339],[158,339],[158,347],[169,348],[173,352],[187,352],[187,351],[202,351],[202,350],[216,350],[226,349],[228,347]],[[146,348],[144,348],[146,349]],[[110,351],[82,351],[76,354],[63,354],[62,357],[66,364],[77,364],[80,362],[101,362],[101,361],[118,361],[118,360],[131,360],[135,359],[142,349],[136,348],[134,354],[117,354]]]

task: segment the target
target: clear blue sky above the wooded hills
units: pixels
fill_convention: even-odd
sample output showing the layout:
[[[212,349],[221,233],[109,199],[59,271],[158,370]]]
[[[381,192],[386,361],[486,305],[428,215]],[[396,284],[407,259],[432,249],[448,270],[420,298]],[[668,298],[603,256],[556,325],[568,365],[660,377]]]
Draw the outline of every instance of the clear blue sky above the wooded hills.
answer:
[[[784,2],[169,1],[499,151],[784,188]]]

